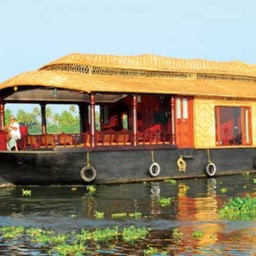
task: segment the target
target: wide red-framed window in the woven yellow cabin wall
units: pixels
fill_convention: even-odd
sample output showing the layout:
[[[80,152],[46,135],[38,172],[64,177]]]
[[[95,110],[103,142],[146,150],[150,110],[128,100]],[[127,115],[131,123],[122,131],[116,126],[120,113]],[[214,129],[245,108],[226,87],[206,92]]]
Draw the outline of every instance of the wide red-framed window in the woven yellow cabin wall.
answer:
[[[250,108],[216,107],[215,119],[218,146],[252,144]]]

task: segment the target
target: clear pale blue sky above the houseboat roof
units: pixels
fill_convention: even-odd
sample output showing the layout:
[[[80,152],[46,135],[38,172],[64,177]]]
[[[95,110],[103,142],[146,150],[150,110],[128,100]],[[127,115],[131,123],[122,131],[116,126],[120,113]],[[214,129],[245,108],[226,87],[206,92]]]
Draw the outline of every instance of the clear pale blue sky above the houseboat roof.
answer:
[[[70,53],[256,64],[255,0],[0,0],[0,83]]]

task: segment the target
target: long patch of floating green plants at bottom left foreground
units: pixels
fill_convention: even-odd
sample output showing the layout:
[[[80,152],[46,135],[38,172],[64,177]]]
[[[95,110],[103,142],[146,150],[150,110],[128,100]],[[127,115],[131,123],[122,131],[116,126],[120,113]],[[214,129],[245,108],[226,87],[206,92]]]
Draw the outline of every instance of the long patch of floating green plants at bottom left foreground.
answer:
[[[90,255],[102,246],[113,249],[117,246],[117,242],[133,243],[143,240],[148,236],[148,233],[149,230],[135,226],[130,226],[124,230],[119,230],[118,227],[80,230],[73,231],[70,234],[36,228],[26,229],[23,226],[4,226],[0,228],[2,244],[7,242],[10,245],[11,241],[15,243],[17,237],[23,236],[32,247],[41,247],[42,250],[48,247],[49,250],[46,252],[48,255]],[[145,255],[152,255],[152,252],[156,252],[156,249],[149,247],[145,250]],[[166,253],[159,255],[166,255]]]

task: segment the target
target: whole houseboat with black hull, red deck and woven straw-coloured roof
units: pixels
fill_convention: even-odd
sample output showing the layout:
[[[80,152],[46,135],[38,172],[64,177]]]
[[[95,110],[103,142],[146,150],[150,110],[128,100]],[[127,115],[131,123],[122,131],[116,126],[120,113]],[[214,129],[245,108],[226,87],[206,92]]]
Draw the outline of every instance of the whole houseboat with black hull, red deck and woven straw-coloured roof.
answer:
[[[70,54],[0,84],[0,186],[106,184],[254,172],[256,65]],[[6,149],[7,103],[37,103],[42,133]],[[47,104],[80,132],[49,134]],[[96,125],[96,109],[100,124]]]

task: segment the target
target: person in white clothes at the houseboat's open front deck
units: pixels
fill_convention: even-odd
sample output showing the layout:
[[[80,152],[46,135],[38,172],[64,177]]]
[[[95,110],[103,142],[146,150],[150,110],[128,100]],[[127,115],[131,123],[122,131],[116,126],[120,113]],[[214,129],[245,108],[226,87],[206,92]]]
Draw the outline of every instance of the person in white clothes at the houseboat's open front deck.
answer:
[[[12,148],[15,147],[15,150],[18,151],[17,140],[20,139],[20,125],[18,122],[15,121],[14,116],[10,117],[10,123],[6,126],[6,128],[8,129],[9,133],[7,149],[11,151]]]

